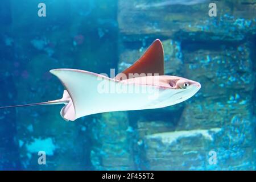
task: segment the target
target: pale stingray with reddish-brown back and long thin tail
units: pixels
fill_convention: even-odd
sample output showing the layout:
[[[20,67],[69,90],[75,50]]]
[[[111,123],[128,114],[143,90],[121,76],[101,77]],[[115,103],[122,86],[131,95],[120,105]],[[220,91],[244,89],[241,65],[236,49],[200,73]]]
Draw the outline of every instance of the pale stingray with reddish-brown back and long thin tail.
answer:
[[[156,109],[179,104],[195,95],[199,82],[164,75],[162,42],[156,39],[140,59],[114,78],[79,69],[52,69],[64,86],[59,100],[0,107],[64,104],[60,115],[75,121],[110,111]]]

